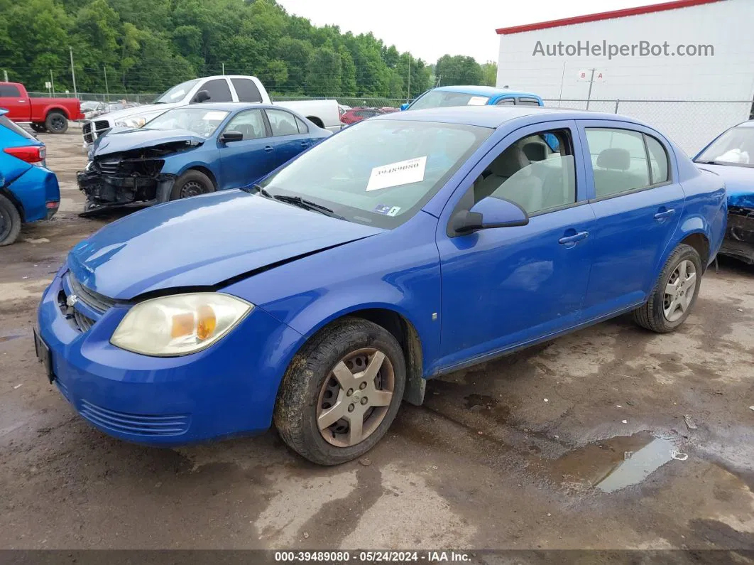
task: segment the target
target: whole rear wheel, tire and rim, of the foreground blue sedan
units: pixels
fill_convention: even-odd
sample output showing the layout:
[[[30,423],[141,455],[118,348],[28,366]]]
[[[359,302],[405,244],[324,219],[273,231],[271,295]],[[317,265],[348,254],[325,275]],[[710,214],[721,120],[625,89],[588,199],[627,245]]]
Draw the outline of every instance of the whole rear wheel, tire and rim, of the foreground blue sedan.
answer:
[[[702,262],[694,247],[680,244],[670,254],[648,301],[634,310],[636,324],[657,333],[672,332],[691,314],[702,278]]]

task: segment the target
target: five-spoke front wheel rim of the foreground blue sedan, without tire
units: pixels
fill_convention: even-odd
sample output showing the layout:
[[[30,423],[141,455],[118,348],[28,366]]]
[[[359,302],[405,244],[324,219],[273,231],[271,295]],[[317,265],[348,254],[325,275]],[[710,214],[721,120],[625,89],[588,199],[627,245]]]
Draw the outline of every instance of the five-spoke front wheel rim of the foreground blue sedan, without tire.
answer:
[[[326,378],[317,400],[317,428],[325,441],[351,447],[369,437],[393,400],[395,373],[384,352],[357,349]]]

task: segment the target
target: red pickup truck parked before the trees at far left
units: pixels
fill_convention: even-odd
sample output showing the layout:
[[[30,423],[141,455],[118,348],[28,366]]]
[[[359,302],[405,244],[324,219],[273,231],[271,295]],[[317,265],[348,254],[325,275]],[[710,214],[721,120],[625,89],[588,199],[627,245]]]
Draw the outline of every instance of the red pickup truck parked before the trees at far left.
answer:
[[[30,121],[32,130],[65,134],[69,120],[83,120],[78,98],[29,98],[18,82],[0,82],[0,108],[11,121]]]

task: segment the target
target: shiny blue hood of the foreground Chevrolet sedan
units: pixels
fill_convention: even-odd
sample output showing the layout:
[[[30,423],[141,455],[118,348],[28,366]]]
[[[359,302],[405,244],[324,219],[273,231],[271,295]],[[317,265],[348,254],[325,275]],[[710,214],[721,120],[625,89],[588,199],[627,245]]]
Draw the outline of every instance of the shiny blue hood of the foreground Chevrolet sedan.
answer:
[[[147,208],[76,245],[78,281],[113,299],[174,287],[213,287],[383,232],[229,190]]]

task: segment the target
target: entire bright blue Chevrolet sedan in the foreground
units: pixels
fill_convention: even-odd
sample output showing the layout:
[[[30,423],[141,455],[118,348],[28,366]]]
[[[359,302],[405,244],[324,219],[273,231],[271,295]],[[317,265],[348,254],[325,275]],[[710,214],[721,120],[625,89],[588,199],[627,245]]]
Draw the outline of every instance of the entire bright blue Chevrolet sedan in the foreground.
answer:
[[[630,118],[394,113],[81,241],[35,343],[107,434],[176,446],[274,424],[334,465],[431,377],[624,312],[675,330],[725,218],[720,177]]]

